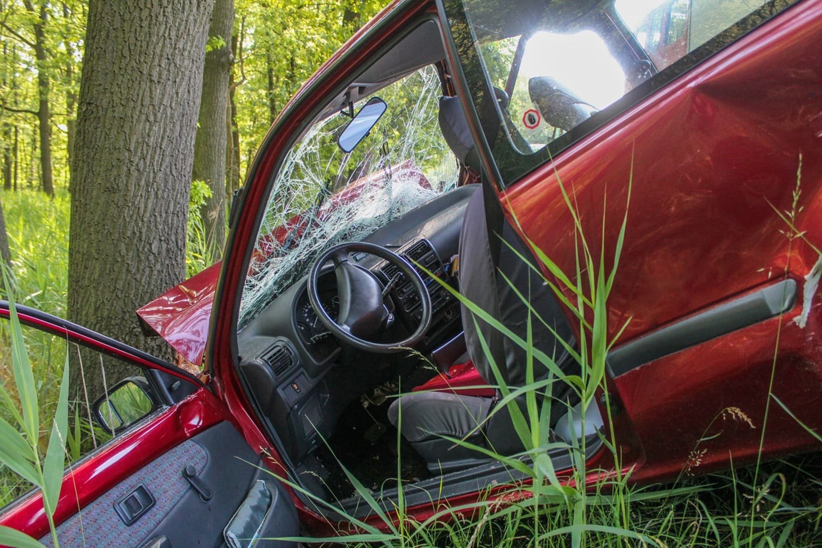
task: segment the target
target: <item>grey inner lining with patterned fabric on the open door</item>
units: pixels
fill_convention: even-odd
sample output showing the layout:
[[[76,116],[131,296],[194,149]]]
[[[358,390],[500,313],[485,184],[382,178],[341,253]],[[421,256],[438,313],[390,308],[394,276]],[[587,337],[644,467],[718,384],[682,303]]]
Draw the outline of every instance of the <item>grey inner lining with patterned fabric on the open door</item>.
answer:
[[[190,440],[160,454],[131,476],[118,482],[81,513],[58,526],[58,540],[65,546],[141,546],[164,536],[171,546],[222,546],[223,530],[245,499],[250,486],[264,481],[272,495],[271,516],[261,536],[294,536],[296,513],[289,496],[267,472],[261,459],[229,422],[220,422]],[[212,493],[203,501],[182,471],[193,466],[196,477]],[[266,478],[267,476],[267,478]],[[115,509],[132,490],[143,486],[155,504],[131,525],[126,525]],[[291,517],[292,519],[284,519]],[[40,539],[52,546],[51,536]]]

